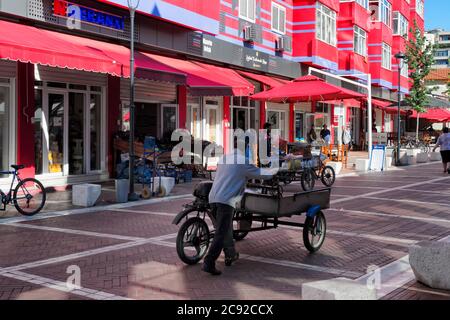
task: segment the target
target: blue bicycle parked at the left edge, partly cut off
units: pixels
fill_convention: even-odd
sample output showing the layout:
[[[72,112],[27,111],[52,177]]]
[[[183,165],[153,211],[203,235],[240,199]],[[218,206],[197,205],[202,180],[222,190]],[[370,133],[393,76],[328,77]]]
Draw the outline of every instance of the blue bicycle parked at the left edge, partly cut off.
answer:
[[[17,211],[25,216],[38,214],[45,206],[46,192],[42,183],[34,178],[21,179],[19,171],[24,165],[12,165],[14,171],[0,171],[0,174],[12,175],[11,187],[5,194],[0,190],[0,211],[6,211],[6,206],[13,204]],[[15,188],[14,183],[17,180]]]

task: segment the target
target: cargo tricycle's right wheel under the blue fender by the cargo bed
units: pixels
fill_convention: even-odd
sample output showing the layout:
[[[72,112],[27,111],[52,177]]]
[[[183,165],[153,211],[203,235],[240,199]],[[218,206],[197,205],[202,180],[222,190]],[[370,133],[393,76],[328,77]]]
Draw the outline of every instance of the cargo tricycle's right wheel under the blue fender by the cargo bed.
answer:
[[[327,233],[327,221],[322,211],[314,217],[306,217],[303,227],[303,243],[309,252],[314,253],[320,250],[325,242]]]

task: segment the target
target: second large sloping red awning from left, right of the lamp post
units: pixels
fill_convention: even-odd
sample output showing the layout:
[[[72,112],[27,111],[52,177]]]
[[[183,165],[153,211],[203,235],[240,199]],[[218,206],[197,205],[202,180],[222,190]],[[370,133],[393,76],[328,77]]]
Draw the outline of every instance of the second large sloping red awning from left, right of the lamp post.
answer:
[[[254,86],[234,70],[153,54],[144,55],[185,73],[192,96],[248,96],[254,92]]]

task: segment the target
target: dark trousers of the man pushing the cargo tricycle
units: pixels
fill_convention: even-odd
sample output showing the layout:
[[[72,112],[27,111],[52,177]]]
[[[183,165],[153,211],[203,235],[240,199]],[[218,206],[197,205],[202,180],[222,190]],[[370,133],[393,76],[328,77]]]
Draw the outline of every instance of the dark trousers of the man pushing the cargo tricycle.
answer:
[[[226,257],[234,257],[236,255],[233,240],[234,208],[222,203],[213,203],[212,207],[216,218],[216,232],[208,254],[205,257],[205,263],[208,266],[215,265],[222,249]]]

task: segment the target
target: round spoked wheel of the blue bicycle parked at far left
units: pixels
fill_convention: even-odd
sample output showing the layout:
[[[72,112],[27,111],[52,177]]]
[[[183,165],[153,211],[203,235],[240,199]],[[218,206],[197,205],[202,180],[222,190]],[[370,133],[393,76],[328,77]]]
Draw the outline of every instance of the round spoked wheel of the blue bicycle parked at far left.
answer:
[[[38,214],[44,208],[46,199],[44,186],[33,178],[20,181],[14,189],[14,207],[25,216]]]

